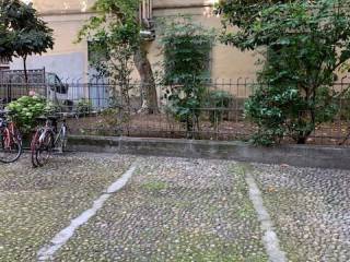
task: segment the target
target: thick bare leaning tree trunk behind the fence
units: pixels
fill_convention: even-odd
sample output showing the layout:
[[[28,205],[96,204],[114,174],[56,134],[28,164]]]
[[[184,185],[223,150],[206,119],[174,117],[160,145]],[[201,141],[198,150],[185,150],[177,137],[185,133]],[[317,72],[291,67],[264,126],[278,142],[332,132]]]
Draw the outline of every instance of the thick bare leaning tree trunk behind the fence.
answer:
[[[133,61],[141,78],[141,92],[143,93],[141,110],[147,110],[148,114],[158,114],[159,107],[155,81],[151,63],[147,57],[144,44],[141,44],[140,48],[138,48],[133,56]]]

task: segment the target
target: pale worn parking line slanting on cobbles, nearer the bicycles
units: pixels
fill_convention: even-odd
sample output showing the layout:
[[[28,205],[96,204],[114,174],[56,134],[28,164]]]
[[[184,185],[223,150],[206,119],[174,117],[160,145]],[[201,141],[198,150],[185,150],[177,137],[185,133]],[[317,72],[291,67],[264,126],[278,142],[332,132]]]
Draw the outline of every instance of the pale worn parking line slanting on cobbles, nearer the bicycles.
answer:
[[[122,176],[112,183],[103,194],[94,201],[90,210],[84,211],[77,218],[72,219],[70,225],[59,231],[51,240],[50,243],[43,247],[37,253],[38,261],[51,260],[54,254],[74,235],[74,231],[84,225],[91,217],[93,217],[110,195],[118,190],[122,189],[136,170],[136,165],[132,165]]]

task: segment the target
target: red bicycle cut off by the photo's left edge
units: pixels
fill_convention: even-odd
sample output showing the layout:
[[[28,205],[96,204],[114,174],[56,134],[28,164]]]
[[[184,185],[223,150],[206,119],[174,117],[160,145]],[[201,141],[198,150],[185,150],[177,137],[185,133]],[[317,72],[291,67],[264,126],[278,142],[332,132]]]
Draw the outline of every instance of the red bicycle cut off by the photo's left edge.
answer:
[[[0,110],[0,162],[13,163],[22,155],[22,138],[13,121],[9,121],[8,111]]]

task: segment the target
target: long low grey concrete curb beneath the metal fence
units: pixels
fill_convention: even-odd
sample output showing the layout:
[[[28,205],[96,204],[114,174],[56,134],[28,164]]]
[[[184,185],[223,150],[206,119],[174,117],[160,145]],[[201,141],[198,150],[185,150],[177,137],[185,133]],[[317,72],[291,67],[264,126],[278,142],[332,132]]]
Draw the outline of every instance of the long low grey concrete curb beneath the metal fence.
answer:
[[[301,167],[350,169],[350,148],[283,145],[259,147],[243,142],[70,136],[69,150],[191,158],[219,158]]]

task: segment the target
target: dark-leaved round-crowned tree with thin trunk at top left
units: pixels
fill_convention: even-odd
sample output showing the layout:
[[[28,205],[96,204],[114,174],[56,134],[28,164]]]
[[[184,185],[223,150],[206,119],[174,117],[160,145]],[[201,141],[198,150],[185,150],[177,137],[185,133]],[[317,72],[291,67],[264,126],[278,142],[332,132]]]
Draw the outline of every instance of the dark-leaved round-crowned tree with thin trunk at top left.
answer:
[[[37,15],[32,3],[20,0],[0,0],[0,21],[4,27],[4,41],[15,57],[22,57],[25,83],[27,84],[26,59],[52,49],[52,29]],[[10,58],[11,60],[11,58]]]

